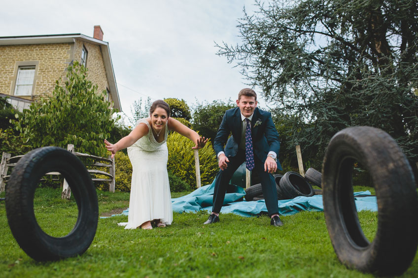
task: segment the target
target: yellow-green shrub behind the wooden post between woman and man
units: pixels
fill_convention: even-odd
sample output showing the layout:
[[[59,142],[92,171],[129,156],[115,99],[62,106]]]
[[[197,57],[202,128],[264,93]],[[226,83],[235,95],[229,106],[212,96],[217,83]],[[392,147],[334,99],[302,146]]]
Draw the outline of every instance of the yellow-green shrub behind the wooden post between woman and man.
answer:
[[[196,189],[195,160],[192,147],[194,143],[188,138],[174,132],[169,135],[167,147],[169,160],[167,168],[181,180]],[[216,155],[210,141],[199,150],[200,179],[202,185],[210,184],[218,170]]]

